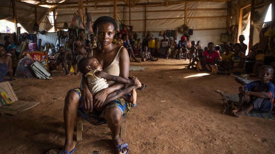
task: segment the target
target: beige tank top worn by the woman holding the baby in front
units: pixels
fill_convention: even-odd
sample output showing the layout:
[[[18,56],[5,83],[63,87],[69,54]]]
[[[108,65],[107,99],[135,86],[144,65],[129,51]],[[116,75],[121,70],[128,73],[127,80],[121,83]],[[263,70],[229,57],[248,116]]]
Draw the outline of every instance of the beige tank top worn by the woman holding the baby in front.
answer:
[[[118,53],[119,53],[121,48],[122,47],[119,48]],[[120,74],[120,62],[118,61],[118,53],[116,54],[116,57],[114,58],[113,62],[108,67],[103,69],[104,72],[106,72],[110,75],[119,76],[119,74]],[[93,49],[91,51],[91,57],[93,57]],[[109,84],[109,86],[112,86],[116,82],[107,80],[107,83]]]

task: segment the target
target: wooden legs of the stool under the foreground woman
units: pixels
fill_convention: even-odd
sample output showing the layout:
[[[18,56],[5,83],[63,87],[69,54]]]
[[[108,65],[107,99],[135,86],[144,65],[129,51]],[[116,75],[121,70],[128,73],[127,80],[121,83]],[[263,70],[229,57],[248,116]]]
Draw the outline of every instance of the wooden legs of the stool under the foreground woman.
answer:
[[[82,131],[83,131],[82,123],[87,123],[87,121],[84,120],[81,116],[77,116],[77,119],[76,119],[76,140],[77,141],[82,141]],[[120,127],[120,133],[119,133],[120,138],[126,137],[126,123],[127,123],[127,115],[122,117],[122,124]]]

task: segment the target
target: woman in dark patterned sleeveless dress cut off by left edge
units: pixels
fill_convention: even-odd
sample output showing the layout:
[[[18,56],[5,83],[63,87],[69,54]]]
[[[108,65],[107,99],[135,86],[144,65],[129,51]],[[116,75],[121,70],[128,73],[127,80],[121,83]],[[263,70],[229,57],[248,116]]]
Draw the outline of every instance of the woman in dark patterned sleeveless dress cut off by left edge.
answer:
[[[3,44],[0,44],[0,82],[3,82],[3,79],[7,73],[9,73],[10,81],[15,80],[13,78],[13,62],[11,56],[6,54],[6,52],[7,47]]]

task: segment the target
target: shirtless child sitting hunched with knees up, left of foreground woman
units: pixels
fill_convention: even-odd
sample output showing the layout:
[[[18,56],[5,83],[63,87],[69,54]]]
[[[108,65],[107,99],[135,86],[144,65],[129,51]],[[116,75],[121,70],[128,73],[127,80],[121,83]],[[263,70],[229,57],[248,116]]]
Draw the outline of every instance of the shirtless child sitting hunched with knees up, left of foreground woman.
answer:
[[[73,56],[70,51],[65,51],[64,47],[58,48],[58,56],[56,58],[56,69],[66,71],[66,76],[74,76],[72,72],[69,71],[72,67]],[[68,67],[68,68],[67,68]]]

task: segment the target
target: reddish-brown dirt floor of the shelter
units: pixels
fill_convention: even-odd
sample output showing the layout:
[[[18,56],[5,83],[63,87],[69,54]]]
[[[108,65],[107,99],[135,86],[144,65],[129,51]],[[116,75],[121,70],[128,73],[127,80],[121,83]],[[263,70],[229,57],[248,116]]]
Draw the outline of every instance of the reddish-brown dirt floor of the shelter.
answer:
[[[227,75],[188,77],[206,73],[183,68],[188,63],[184,59],[130,63],[146,66],[130,76],[137,76],[147,88],[137,92],[138,105],[127,116],[124,141],[129,153],[275,153],[274,120],[222,114],[222,96],[215,90],[237,94],[241,84]],[[0,116],[0,153],[45,154],[62,149],[63,98],[79,87],[80,75],[51,81],[16,79],[11,83],[19,100],[40,104],[15,116]],[[83,123],[83,141],[77,142],[75,135],[74,142],[74,154],[106,150],[111,151],[102,154],[113,154],[115,149],[107,125]]]

